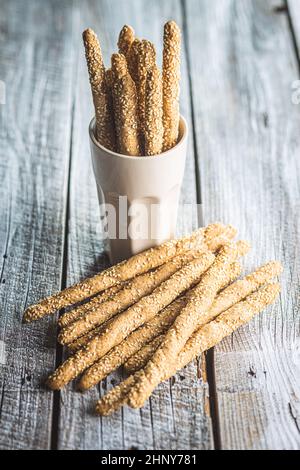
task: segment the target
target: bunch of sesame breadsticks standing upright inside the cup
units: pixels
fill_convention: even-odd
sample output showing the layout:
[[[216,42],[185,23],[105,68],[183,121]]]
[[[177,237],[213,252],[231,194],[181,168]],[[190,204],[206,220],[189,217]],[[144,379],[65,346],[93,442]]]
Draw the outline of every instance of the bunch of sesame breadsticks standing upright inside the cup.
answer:
[[[180,29],[164,27],[162,76],[154,45],[125,25],[119,53],[105,70],[96,34],[83,32],[95,107],[95,133],[104,147],[123,155],[158,155],[176,145],[179,133]]]

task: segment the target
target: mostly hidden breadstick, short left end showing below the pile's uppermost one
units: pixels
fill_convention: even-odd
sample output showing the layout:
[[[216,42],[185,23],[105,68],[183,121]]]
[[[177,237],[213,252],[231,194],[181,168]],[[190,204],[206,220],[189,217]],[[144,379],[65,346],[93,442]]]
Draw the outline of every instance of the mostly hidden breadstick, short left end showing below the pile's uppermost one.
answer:
[[[79,305],[78,307],[75,307],[73,310],[70,310],[64,313],[57,320],[58,326],[63,328],[65,326],[70,325],[75,320],[78,320],[78,318],[84,316],[84,314],[87,313],[92,308],[95,308],[96,306],[99,306],[102,302],[106,302],[108,299],[110,299],[114,294],[119,292],[119,290],[122,289],[125,284],[126,283],[122,282],[120,284],[117,284],[116,286],[110,287],[109,289],[106,289],[101,294],[97,295],[96,297],[93,297],[91,300],[89,300],[85,304]]]

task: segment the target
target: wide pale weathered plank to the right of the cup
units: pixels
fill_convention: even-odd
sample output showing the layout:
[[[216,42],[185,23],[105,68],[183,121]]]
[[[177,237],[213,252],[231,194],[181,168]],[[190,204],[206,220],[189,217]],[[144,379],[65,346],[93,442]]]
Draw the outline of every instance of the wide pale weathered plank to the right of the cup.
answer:
[[[277,7],[186,2],[205,222],[251,240],[247,270],[270,258],[286,267],[280,302],[215,349],[224,449],[300,447],[299,70]]]

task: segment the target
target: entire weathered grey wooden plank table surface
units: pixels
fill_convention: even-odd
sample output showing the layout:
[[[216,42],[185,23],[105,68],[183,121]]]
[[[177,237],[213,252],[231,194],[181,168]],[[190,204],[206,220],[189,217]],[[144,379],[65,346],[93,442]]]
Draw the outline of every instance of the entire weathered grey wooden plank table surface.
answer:
[[[0,0],[0,9],[0,447],[299,449],[300,1]],[[50,392],[43,380],[64,355],[55,318],[21,319],[108,265],[81,32],[96,30],[108,63],[124,23],[161,47],[171,18],[183,28],[191,131],[181,201],[203,214],[181,214],[178,231],[234,224],[253,245],[246,272],[283,262],[282,293],[143,409],[100,419],[94,402],[120,374],[90,393]]]

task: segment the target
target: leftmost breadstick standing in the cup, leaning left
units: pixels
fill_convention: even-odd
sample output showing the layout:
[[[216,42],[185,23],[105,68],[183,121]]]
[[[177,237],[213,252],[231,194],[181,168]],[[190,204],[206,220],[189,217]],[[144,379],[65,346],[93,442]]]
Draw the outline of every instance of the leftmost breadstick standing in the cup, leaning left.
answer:
[[[86,62],[92,89],[96,116],[96,138],[104,147],[115,150],[112,108],[105,81],[105,69],[98,38],[92,29],[83,34]]]

